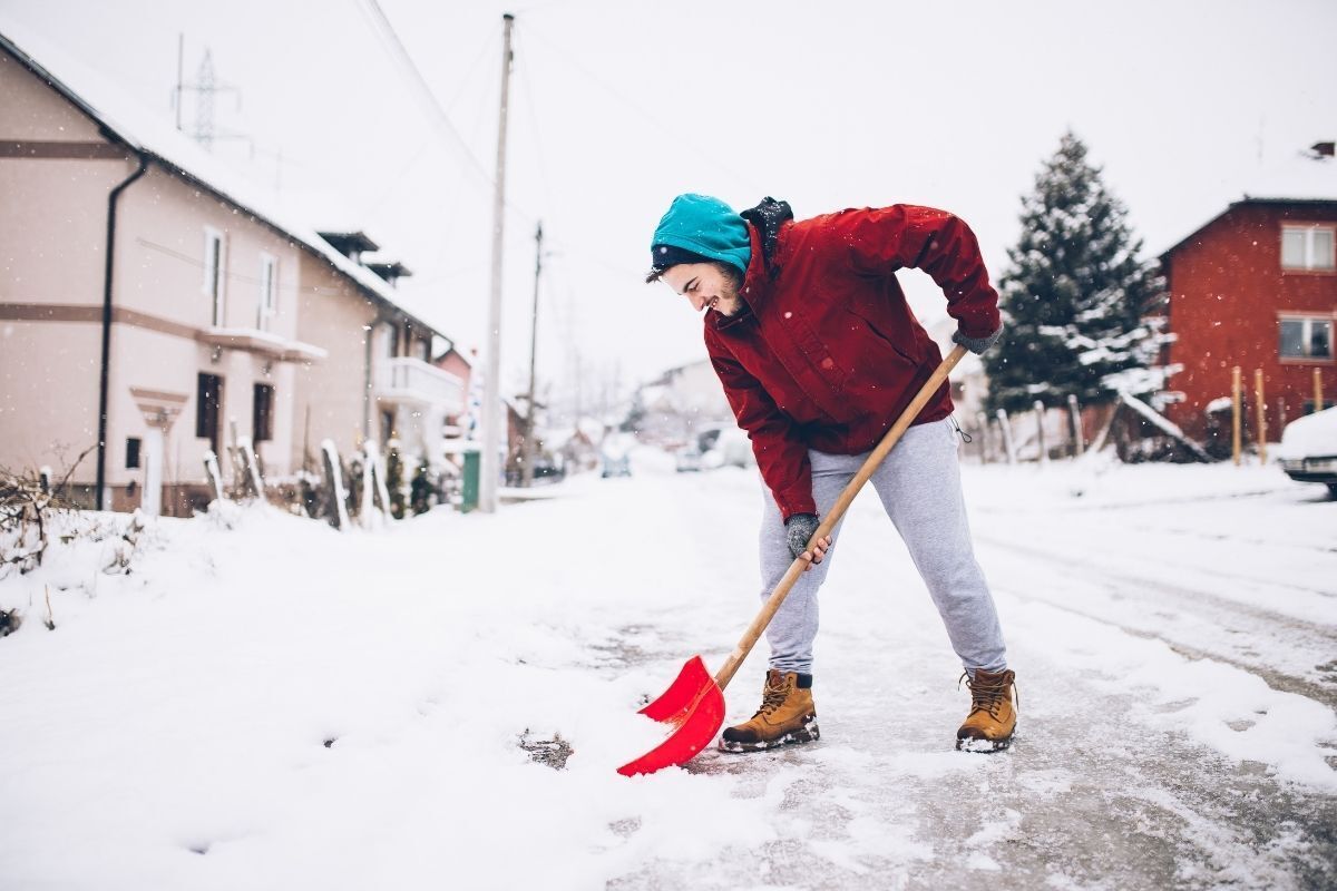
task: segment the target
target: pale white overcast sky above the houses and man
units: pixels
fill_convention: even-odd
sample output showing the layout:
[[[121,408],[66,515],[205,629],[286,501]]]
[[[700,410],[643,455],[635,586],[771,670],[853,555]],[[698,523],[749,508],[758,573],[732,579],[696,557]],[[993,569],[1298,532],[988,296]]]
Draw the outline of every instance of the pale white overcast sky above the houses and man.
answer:
[[[501,13],[515,12],[501,357],[515,391],[540,218],[554,251],[540,374],[570,387],[579,357],[587,378],[626,387],[705,354],[697,318],[640,283],[678,192],[739,208],[769,194],[800,218],[944,207],[997,274],[1020,196],[1068,127],[1151,252],[1337,136],[1337,5],[1322,0],[382,0],[453,134],[431,123],[365,3],[0,0],[0,31],[27,24],[164,119],[178,33],[187,80],[209,47],[241,91],[239,110],[217,98],[217,127],[257,147],[253,162],[241,142],[218,154],[281,183],[313,227],[365,230],[416,273],[405,305],[481,347]],[[189,127],[189,96],[185,112]],[[1337,164],[1308,166],[1337,192]],[[940,314],[927,278],[902,279],[924,317]]]

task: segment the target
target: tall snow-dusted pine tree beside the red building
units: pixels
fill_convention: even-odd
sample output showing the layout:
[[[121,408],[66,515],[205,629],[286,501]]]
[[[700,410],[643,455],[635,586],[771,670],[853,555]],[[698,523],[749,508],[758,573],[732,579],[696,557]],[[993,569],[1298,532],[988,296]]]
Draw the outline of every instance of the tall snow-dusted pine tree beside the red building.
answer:
[[[1148,313],[1165,282],[1140,251],[1086,146],[1064,134],[1021,199],[1021,236],[999,281],[1007,330],[984,354],[991,409],[1059,406],[1068,394],[1106,402],[1159,386],[1163,319]]]

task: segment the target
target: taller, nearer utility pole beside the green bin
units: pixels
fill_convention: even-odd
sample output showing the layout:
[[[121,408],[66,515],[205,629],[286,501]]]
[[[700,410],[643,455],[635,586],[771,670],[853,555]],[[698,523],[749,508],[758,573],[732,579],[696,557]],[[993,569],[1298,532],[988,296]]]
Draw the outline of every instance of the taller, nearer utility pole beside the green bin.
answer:
[[[497,450],[501,445],[501,236],[505,227],[505,124],[511,99],[511,27],[501,16],[501,116],[497,122],[497,172],[492,200],[492,301],[488,305],[488,365],[483,381],[483,456],[479,462],[479,510],[497,509]]]

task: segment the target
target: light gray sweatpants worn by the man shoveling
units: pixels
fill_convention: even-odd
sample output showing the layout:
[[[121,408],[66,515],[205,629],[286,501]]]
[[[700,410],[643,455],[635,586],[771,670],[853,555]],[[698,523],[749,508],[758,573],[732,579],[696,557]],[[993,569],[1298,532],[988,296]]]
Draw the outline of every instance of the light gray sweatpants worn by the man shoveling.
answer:
[[[841,489],[854,477],[868,454],[809,452],[813,500],[826,516]],[[1007,649],[993,597],[975,562],[971,529],[965,521],[961,473],[956,460],[956,433],[951,418],[910,427],[869,481],[886,516],[900,532],[910,558],[928,585],[952,648],[969,669],[1007,668]],[[766,492],[761,521],[762,600],[770,596],[794,561],[785,542],[785,525],[775,500]],[[844,520],[841,521],[844,524]],[[789,597],[766,629],[770,667],[812,673],[817,637],[817,589],[840,553],[840,525],[822,562],[798,577]]]

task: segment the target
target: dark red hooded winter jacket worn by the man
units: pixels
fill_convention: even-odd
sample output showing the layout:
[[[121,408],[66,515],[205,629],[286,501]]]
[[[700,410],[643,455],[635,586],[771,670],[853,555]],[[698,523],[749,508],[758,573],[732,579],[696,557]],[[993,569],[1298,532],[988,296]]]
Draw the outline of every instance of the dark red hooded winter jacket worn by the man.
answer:
[[[975,234],[945,211],[894,204],[796,223],[787,204],[766,199],[743,218],[745,307],[707,310],[706,349],[787,520],[817,513],[808,449],[869,452],[943,359],[896,270],[928,273],[972,338],[999,329],[997,293]],[[951,413],[944,383],[915,423]]]

